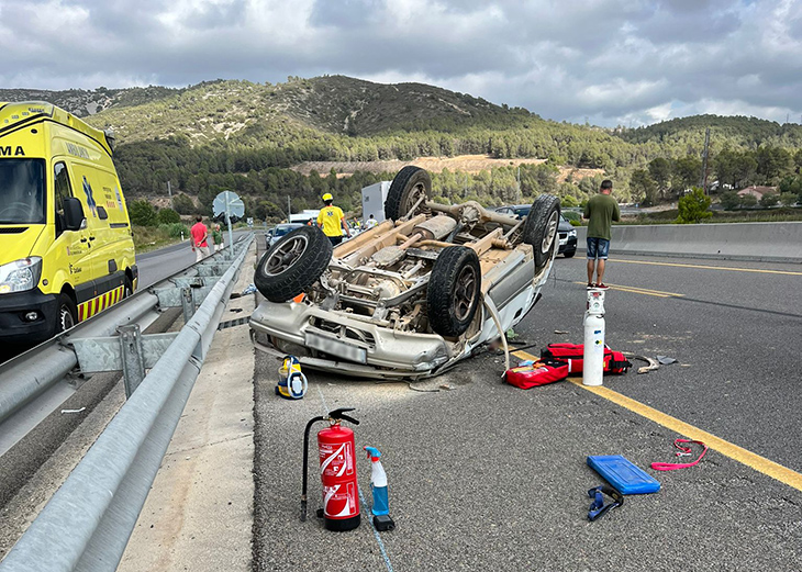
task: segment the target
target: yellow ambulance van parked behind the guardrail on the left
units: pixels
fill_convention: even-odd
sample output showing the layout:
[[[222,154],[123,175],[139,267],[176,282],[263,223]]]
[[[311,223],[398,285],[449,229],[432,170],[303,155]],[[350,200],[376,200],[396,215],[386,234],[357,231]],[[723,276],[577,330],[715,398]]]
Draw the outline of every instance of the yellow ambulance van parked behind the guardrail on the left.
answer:
[[[112,146],[51,103],[0,102],[0,341],[47,339],[136,289]]]

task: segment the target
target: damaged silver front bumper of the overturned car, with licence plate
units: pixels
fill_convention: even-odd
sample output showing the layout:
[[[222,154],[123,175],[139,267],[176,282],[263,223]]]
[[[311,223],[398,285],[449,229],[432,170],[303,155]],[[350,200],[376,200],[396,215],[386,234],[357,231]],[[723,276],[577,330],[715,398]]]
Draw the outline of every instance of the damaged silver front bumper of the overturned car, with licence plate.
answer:
[[[303,302],[263,302],[250,316],[250,329],[259,349],[293,354],[313,369],[372,379],[428,377],[455,351],[436,334],[397,332]]]

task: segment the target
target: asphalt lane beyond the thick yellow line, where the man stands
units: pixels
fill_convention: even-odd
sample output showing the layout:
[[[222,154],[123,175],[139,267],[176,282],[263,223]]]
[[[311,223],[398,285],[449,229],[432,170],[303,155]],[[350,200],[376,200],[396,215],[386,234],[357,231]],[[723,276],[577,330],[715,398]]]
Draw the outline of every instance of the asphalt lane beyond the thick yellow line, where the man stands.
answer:
[[[581,343],[586,261],[557,262],[521,332]],[[802,472],[802,266],[613,256],[605,282],[608,344],[680,362],[611,386]]]

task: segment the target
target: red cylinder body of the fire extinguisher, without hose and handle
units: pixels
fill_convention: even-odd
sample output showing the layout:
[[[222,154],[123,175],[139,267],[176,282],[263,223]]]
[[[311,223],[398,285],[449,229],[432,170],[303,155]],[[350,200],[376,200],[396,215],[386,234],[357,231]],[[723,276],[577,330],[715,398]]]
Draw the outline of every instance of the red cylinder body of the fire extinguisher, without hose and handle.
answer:
[[[359,526],[359,491],[356,483],[354,431],[334,424],[318,433],[323,517],[328,530]]]

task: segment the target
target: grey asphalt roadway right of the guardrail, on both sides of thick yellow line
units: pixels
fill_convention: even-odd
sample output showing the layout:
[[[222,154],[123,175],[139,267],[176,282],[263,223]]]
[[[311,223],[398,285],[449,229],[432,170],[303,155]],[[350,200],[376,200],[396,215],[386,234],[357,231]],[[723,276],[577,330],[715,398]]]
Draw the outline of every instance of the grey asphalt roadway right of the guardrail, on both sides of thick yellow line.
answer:
[[[582,341],[584,260],[558,259],[555,270],[516,328],[537,345],[532,354]],[[801,471],[801,279],[799,266],[614,257],[608,343],[679,363],[605,386]],[[799,489],[717,450],[694,468],[653,471],[677,460],[681,435],[573,383],[505,385],[503,357],[484,352],[414,384],[308,371],[309,393],[289,402],[274,394],[277,366],[257,355],[255,570],[802,570]],[[357,449],[383,452],[392,532],[367,520],[324,530],[314,467],[311,517],[298,518],[304,424],[345,406],[361,420]],[[590,523],[587,491],[602,481],[586,458],[614,453],[661,491]],[[357,467],[369,502],[363,455]]]

